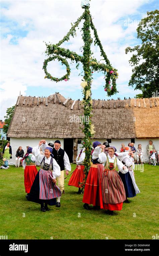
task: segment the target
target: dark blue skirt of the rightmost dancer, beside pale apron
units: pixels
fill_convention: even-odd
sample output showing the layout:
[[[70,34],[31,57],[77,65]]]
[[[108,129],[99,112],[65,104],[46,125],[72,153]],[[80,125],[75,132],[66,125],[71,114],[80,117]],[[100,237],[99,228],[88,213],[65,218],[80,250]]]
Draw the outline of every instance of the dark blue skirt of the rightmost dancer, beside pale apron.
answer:
[[[133,182],[131,180],[131,176],[129,172],[121,173],[121,171],[119,171],[119,176],[124,184],[124,189],[126,192],[126,197],[135,197],[136,196],[136,192],[133,186]]]

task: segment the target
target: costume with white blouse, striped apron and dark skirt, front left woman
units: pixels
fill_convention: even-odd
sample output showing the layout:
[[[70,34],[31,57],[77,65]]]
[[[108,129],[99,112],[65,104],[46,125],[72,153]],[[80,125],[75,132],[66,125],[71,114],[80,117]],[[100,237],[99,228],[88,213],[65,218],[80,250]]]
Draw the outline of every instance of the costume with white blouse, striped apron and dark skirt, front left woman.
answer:
[[[41,162],[41,166],[31,187],[28,201],[56,205],[56,198],[61,196],[61,191],[52,179],[60,176],[60,166],[51,156],[47,158],[41,155],[39,148],[38,145],[32,151],[36,160]]]

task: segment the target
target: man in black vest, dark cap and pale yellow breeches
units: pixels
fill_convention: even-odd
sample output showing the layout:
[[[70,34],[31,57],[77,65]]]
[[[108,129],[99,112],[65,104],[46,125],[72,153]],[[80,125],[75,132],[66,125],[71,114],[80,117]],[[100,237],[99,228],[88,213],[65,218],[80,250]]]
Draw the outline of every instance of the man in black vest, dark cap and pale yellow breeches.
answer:
[[[63,149],[61,149],[61,142],[59,140],[56,140],[54,142],[54,148],[53,148],[52,154],[54,155],[54,159],[56,160],[56,162],[58,163],[61,169],[61,175],[57,178],[57,181],[58,181],[58,187],[60,188],[61,193],[64,193],[64,175],[65,175],[64,171],[66,170],[66,175],[68,175],[68,171],[71,170],[71,165],[66,152]],[[57,198],[56,207],[61,206],[60,198],[61,197]]]

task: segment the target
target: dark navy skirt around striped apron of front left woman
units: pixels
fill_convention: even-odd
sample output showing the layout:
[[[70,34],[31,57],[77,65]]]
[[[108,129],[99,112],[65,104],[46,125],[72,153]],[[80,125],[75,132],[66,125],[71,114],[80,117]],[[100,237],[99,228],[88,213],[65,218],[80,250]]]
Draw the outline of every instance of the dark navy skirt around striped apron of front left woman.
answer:
[[[56,205],[56,198],[50,199],[50,200],[39,199],[39,194],[40,194],[39,171],[35,177],[35,180],[33,182],[33,185],[31,187],[31,191],[29,193],[27,200],[34,203],[38,203],[38,204],[47,203],[48,205]]]

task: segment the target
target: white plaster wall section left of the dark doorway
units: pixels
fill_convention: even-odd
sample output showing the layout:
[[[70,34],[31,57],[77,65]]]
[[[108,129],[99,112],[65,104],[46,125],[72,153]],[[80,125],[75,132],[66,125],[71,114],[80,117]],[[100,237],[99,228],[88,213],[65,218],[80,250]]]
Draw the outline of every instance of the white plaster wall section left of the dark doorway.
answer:
[[[24,150],[24,154],[27,152],[27,146],[36,147],[40,140],[46,140],[47,143],[53,143],[55,140],[59,140],[61,142],[61,148],[63,149],[64,140],[63,139],[48,139],[48,138],[10,138],[10,145],[12,147],[12,159],[10,159],[9,164],[15,164],[15,154],[19,146]]]

